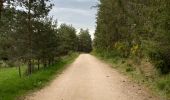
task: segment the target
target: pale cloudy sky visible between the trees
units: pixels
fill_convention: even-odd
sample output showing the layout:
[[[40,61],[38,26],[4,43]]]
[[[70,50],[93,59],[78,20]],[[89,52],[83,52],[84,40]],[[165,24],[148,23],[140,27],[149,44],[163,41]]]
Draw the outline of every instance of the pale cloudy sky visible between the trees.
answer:
[[[58,24],[72,24],[79,32],[80,28],[89,29],[92,38],[96,26],[97,9],[92,6],[97,5],[98,0],[52,0],[55,5],[50,12],[50,16],[58,20]]]

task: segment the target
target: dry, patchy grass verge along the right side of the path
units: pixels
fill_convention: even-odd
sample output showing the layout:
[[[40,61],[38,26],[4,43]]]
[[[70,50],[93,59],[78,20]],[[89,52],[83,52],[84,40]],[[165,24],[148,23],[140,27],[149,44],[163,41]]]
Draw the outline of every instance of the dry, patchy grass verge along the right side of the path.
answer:
[[[170,100],[170,74],[154,76],[154,79],[150,80],[146,78],[145,74],[141,73],[138,66],[130,65],[126,61],[128,59],[121,59],[117,56],[110,56],[108,52],[92,52],[93,55],[99,59],[109,63],[113,68],[117,69],[120,73],[127,75],[132,81],[137,84],[143,85],[150,89],[150,92],[154,95],[159,95],[163,100]],[[107,56],[109,55],[109,56]]]

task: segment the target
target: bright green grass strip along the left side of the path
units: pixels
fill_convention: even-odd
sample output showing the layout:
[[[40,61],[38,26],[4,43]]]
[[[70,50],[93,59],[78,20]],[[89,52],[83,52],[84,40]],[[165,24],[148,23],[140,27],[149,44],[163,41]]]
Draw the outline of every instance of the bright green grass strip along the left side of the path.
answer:
[[[41,68],[40,71],[22,78],[19,77],[17,68],[0,69],[0,100],[18,100],[29,92],[44,87],[77,56],[77,53],[65,56],[54,66]],[[22,68],[22,73],[25,72],[25,69],[26,67]]]

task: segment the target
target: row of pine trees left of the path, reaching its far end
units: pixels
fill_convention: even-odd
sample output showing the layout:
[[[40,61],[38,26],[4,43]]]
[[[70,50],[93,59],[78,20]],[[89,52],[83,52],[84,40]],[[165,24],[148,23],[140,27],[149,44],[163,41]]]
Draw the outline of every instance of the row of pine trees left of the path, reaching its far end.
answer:
[[[57,21],[48,16],[52,6],[50,0],[0,1],[1,63],[27,64],[31,74],[35,65],[47,67],[70,52],[92,50],[89,31],[81,29],[77,35],[72,25],[58,28]]]

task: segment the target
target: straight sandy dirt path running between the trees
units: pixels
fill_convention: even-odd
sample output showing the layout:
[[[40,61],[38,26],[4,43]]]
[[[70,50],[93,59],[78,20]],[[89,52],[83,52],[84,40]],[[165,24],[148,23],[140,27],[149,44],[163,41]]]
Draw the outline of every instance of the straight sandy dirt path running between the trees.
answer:
[[[157,100],[137,84],[89,54],[26,100]]]

